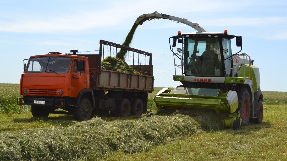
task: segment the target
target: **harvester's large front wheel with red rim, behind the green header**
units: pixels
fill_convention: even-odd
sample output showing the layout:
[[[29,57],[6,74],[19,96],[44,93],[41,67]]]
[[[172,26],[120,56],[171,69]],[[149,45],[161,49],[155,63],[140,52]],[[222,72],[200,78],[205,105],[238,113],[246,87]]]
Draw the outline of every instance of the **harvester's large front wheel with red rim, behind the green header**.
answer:
[[[239,105],[236,112],[240,110],[240,117],[242,119],[241,126],[247,126],[250,118],[250,95],[247,89],[241,88],[236,90]]]

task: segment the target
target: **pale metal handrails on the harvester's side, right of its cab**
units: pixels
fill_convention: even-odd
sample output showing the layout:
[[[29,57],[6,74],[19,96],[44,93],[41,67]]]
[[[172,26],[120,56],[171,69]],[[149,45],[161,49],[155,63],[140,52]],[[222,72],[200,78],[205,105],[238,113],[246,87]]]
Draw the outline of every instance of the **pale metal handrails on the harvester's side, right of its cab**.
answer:
[[[236,60],[236,58],[239,58],[239,56],[243,56],[243,64],[241,64],[240,66],[238,66],[238,63],[236,62],[236,64],[233,63],[233,67],[231,68],[231,67],[230,67],[231,62],[234,62],[233,60],[234,60],[234,59]],[[246,60],[248,61],[248,63],[245,63]],[[245,64],[248,64],[248,66],[246,66]],[[247,55],[246,53],[241,53],[241,54],[238,54],[238,55],[234,55],[234,57],[232,57],[232,58],[228,61],[228,71],[231,71],[231,70],[232,70],[232,74],[228,72],[228,75],[230,76],[230,74],[231,74],[231,76],[234,77],[235,74],[239,72],[239,69],[240,69],[241,67],[244,67],[244,68],[243,68],[243,70],[244,70],[244,78],[245,78],[245,79],[252,79],[252,78],[251,78],[251,77],[252,77],[252,74],[251,74],[251,61],[250,61],[250,56]],[[249,68],[249,77],[247,77],[247,76],[245,75],[245,67]],[[237,69],[237,72],[236,72],[234,69]],[[237,76],[238,76],[238,75],[237,75]]]

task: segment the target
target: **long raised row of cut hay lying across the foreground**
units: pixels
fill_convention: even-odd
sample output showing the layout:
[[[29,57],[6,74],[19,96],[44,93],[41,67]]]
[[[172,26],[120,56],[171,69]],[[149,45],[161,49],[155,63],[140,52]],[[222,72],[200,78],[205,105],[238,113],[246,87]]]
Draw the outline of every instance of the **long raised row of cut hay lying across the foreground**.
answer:
[[[199,132],[186,115],[104,121],[99,117],[69,127],[27,129],[0,134],[0,160],[95,160],[109,152],[142,152]]]

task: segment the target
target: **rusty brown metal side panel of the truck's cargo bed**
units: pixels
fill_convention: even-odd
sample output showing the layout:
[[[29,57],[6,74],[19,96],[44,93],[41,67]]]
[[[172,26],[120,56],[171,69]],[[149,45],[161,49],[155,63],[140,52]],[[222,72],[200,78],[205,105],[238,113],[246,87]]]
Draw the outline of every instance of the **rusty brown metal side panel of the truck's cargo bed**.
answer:
[[[116,91],[153,91],[153,76],[136,75],[102,69],[99,74],[99,88]]]

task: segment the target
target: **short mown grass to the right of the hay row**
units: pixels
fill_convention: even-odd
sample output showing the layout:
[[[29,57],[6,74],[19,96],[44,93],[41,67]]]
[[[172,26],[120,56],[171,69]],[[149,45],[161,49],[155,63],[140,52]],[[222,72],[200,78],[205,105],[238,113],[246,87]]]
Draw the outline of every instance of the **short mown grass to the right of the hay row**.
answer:
[[[287,160],[287,105],[264,105],[261,124],[193,133],[148,152],[110,153],[100,160]]]

